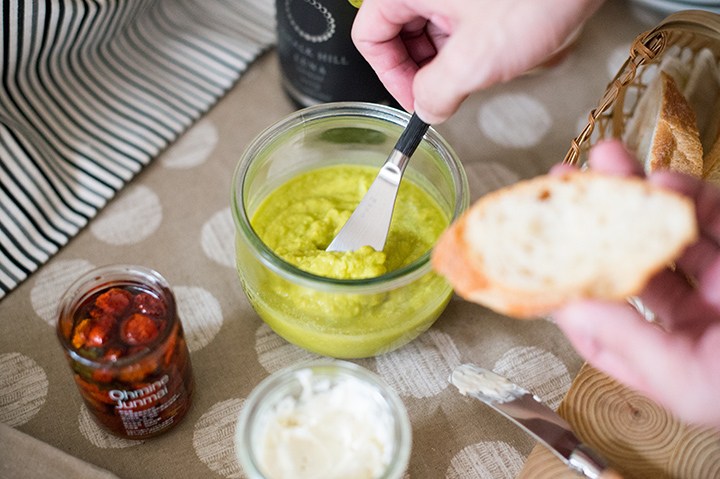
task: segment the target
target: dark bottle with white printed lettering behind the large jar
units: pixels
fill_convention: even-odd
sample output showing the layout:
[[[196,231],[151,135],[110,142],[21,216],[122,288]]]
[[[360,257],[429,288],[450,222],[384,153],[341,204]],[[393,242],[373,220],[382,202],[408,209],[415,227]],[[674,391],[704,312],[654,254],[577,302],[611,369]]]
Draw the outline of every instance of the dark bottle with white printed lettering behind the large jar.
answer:
[[[348,0],[276,0],[283,87],[298,106],[331,101],[394,104],[350,37]]]

